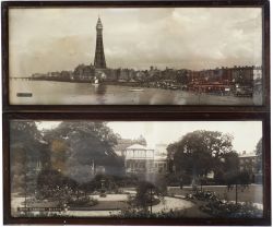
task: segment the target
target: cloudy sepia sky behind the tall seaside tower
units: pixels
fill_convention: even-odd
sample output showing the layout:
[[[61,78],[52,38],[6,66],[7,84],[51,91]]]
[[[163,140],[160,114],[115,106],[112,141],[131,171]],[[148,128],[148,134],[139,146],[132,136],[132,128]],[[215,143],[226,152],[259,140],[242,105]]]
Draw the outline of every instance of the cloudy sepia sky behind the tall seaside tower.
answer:
[[[109,68],[261,65],[261,8],[11,9],[10,75],[94,62],[96,22]]]

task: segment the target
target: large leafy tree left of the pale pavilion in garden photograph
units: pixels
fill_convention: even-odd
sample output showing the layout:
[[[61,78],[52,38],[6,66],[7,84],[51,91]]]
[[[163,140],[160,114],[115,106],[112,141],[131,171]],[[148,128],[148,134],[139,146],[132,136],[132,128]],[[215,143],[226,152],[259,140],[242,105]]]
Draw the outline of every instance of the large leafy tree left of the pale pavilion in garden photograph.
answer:
[[[106,122],[63,121],[46,138],[51,144],[62,144],[55,152],[55,157],[58,159],[59,154],[64,163],[59,165],[66,165],[66,174],[80,182],[91,180],[92,168],[96,166],[104,166],[114,175],[122,170],[122,160],[112,148],[117,144],[117,135]]]

